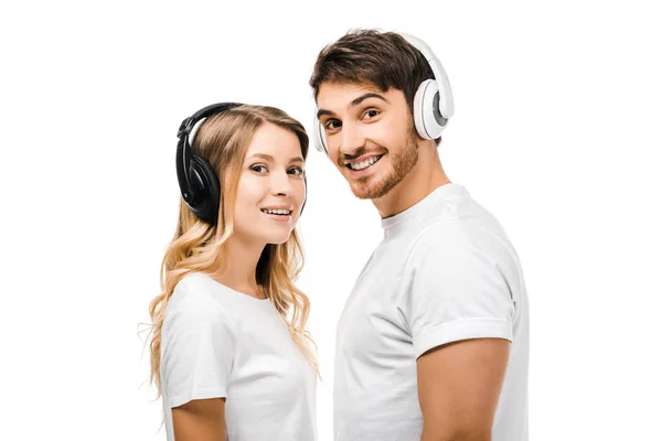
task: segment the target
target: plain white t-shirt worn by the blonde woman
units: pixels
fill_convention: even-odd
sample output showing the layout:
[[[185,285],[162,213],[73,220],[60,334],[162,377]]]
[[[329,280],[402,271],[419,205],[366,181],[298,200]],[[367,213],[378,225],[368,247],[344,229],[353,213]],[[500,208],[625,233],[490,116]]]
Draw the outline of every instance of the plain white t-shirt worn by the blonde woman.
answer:
[[[317,439],[314,369],[270,300],[202,273],[174,288],[161,330],[166,432],[171,408],[226,397],[228,441]]]

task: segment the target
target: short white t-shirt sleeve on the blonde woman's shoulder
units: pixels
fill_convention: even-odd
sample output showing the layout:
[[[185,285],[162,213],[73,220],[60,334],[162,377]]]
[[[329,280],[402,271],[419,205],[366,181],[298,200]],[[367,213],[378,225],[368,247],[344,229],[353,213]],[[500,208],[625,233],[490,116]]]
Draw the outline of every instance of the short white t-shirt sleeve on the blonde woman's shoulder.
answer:
[[[203,291],[175,289],[161,336],[161,384],[171,408],[227,397],[235,342],[218,302]]]

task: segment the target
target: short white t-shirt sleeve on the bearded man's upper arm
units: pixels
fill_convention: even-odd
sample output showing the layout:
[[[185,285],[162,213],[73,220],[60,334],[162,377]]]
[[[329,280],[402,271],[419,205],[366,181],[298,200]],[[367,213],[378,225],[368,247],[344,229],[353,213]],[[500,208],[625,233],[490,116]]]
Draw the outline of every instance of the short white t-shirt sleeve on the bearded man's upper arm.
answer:
[[[513,340],[515,302],[505,246],[478,227],[442,222],[423,232],[403,269],[399,302],[416,357],[468,338]]]

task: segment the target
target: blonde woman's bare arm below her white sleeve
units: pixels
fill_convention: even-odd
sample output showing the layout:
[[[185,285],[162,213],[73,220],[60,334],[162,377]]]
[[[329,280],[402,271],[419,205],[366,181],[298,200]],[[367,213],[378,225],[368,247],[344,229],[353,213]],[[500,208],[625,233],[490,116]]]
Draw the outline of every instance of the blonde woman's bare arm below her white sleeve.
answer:
[[[172,409],[177,441],[225,441],[225,398],[197,399]]]

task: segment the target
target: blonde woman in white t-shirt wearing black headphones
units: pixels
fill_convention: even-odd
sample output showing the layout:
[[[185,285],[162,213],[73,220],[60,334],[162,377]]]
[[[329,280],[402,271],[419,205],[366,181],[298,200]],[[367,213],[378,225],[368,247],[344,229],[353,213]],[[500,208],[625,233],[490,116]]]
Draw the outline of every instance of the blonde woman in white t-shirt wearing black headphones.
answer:
[[[150,304],[168,440],[316,440],[309,301],[292,283],[306,131],[276,108],[221,104],[178,136],[179,223]]]

